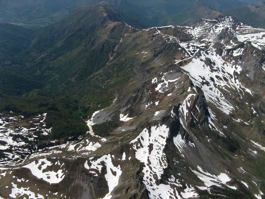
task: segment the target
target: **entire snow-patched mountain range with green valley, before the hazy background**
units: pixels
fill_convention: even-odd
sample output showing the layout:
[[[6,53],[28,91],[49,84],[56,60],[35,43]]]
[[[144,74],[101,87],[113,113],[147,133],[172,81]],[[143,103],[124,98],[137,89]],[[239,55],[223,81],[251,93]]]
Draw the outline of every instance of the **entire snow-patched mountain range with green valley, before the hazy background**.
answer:
[[[108,2],[2,23],[0,198],[262,199],[265,31],[202,8],[185,27]]]

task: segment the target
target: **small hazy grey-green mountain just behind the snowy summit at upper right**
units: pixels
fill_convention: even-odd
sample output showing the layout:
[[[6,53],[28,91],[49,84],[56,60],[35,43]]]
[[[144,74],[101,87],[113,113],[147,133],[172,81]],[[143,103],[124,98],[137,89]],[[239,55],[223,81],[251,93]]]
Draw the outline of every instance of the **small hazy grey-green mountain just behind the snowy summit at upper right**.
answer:
[[[187,10],[186,12],[167,16],[166,24],[163,25],[187,26],[198,19],[214,19],[221,14],[222,13],[214,11],[210,7],[200,6],[194,10]]]

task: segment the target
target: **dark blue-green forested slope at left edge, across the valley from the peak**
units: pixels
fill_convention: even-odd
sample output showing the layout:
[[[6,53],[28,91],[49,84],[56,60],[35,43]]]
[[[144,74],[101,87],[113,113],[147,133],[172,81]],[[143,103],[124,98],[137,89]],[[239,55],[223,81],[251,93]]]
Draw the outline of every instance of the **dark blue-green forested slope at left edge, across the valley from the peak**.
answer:
[[[0,93],[22,95],[41,88],[37,79],[23,74],[28,58],[20,56],[31,45],[35,31],[8,23],[0,24]]]

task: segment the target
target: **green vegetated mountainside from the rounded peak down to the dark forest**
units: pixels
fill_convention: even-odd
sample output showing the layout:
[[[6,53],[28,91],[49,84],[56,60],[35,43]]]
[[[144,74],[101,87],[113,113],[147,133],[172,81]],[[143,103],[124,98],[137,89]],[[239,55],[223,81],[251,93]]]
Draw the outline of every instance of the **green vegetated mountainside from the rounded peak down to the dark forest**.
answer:
[[[120,10],[110,5],[94,8],[84,7],[46,27],[31,47],[20,54],[29,62],[21,73],[31,78],[8,70],[2,73],[1,93],[27,94],[23,98],[2,95],[1,112],[12,111],[25,117],[47,112],[47,127],[53,127],[47,139],[87,132],[81,117],[109,105],[114,99],[112,89],[128,82],[133,75],[132,61],[117,60],[114,52],[123,31],[128,29],[125,24],[113,23],[120,20]],[[113,24],[107,26],[105,22]],[[109,56],[116,58],[106,67]],[[36,79],[39,82],[34,82]],[[14,85],[17,83],[19,86]],[[34,88],[42,90],[29,92]]]

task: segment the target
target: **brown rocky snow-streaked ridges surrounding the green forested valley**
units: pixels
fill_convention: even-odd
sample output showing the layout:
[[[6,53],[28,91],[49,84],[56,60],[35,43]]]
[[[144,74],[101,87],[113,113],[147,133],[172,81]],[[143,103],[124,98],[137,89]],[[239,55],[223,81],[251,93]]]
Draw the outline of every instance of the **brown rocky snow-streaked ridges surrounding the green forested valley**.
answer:
[[[262,199],[265,30],[225,14],[138,30],[102,9],[93,45],[114,47],[92,79],[115,61],[130,63],[122,68],[129,78],[112,86],[110,104],[83,118],[89,130],[79,137],[36,143],[55,128],[46,112],[0,114],[0,198]],[[85,31],[86,23],[64,23],[64,31]],[[61,75],[59,89],[81,75]]]

